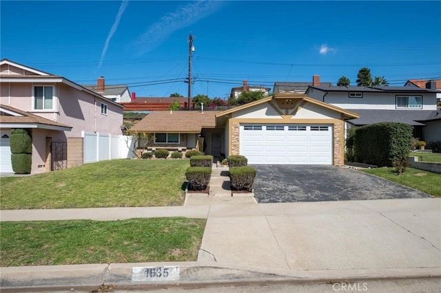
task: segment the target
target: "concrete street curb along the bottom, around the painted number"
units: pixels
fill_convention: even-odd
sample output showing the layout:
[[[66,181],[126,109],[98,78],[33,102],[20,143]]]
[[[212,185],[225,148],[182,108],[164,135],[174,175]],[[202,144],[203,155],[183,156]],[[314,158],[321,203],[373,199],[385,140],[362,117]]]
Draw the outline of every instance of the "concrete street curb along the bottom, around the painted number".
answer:
[[[178,279],[132,281],[133,268],[176,266]],[[111,263],[1,268],[1,292],[98,290],[209,286],[235,283],[329,283],[378,279],[440,278],[440,268],[386,268],[355,270],[287,270],[229,263]],[[96,292],[96,291],[94,291]]]

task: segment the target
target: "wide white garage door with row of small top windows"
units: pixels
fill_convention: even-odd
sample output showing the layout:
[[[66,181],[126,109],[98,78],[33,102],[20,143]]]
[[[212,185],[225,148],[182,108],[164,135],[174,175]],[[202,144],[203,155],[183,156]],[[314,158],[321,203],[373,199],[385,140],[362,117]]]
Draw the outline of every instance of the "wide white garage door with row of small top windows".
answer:
[[[332,164],[332,126],[241,124],[240,155],[248,164]]]

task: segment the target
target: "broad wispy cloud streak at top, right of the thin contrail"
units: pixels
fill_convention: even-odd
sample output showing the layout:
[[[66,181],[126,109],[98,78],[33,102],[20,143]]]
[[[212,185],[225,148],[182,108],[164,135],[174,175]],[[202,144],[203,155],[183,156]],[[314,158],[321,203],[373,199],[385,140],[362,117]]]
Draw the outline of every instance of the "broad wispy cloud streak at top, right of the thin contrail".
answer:
[[[135,41],[139,47],[139,55],[150,52],[160,45],[167,36],[176,30],[185,28],[216,12],[223,5],[223,1],[191,1],[165,14],[159,21],[149,28]]]

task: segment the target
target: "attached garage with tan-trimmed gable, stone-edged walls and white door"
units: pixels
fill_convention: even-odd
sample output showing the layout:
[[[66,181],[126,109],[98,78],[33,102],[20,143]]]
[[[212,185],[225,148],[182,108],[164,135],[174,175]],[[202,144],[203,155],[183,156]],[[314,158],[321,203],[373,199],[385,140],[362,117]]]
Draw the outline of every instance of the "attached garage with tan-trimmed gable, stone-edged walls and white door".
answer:
[[[345,164],[345,120],[357,113],[305,94],[282,93],[216,114],[225,155],[249,164]]]

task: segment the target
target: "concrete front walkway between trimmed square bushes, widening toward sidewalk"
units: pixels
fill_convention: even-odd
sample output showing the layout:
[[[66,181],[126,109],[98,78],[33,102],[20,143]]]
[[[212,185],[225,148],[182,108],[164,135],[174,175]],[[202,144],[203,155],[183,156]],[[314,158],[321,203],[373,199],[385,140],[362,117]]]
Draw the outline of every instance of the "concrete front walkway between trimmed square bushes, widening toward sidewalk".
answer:
[[[211,204],[257,204],[254,193],[232,193],[228,166],[214,164],[209,193],[186,193],[184,206]]]

